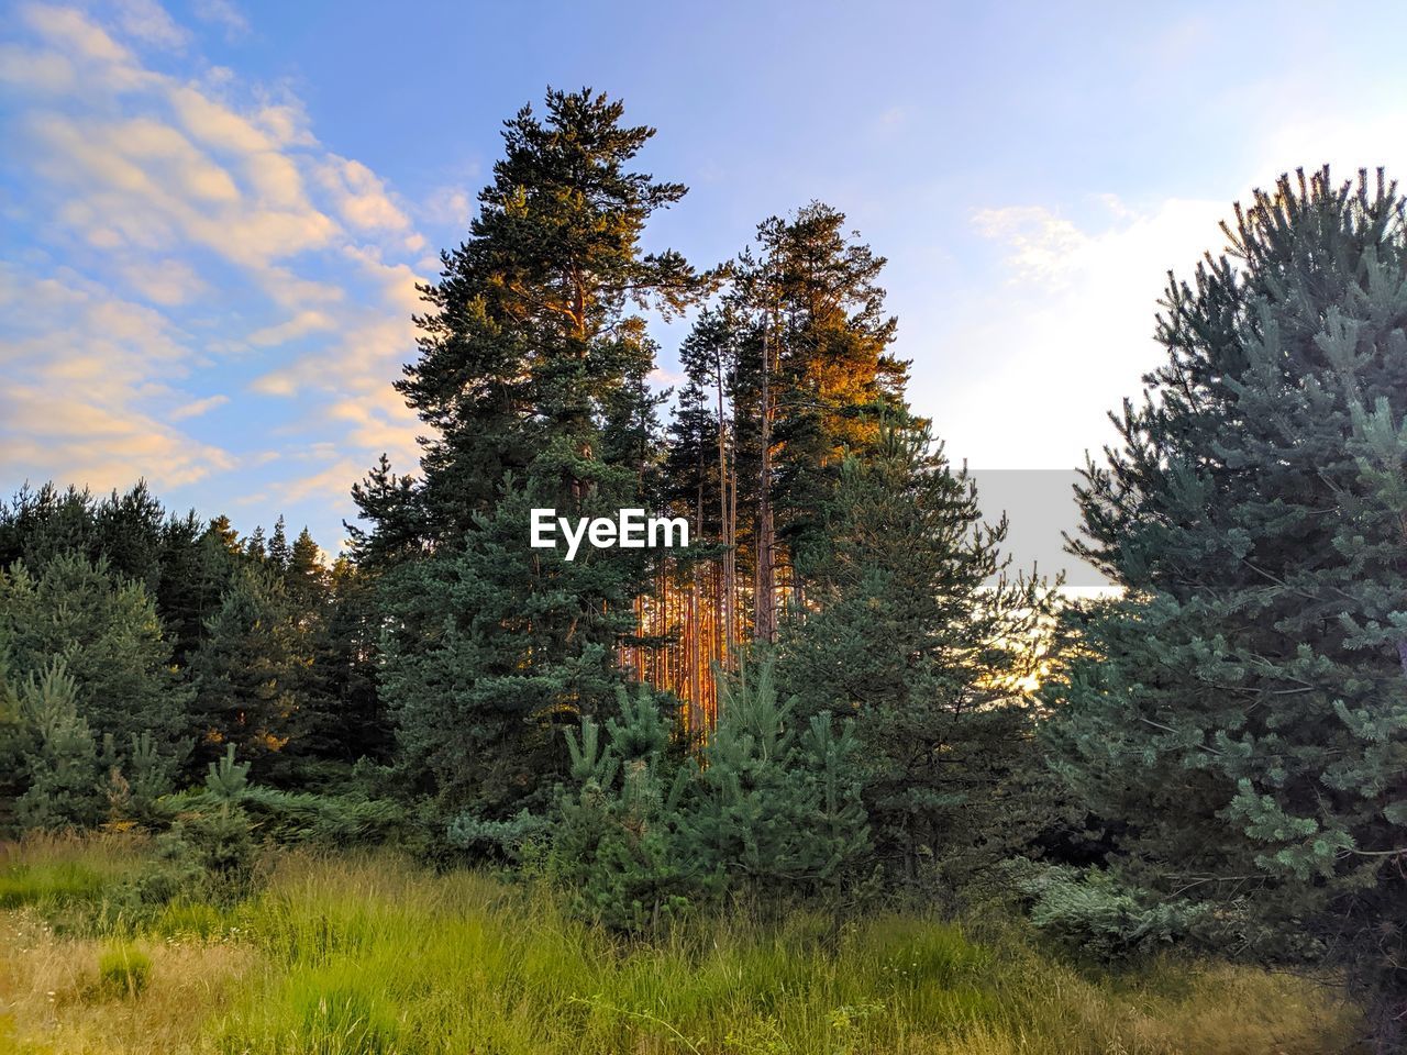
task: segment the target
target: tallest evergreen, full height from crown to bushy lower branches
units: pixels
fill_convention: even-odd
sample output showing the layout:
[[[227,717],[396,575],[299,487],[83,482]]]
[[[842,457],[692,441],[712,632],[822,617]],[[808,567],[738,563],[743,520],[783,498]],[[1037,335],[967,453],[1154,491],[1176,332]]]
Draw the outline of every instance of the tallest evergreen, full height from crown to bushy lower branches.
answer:
[[[398,560],[381,581],[383,688],[405,761],[446,805],[494,819],[561,775],[557,730],[609,709],[646,585],[639,550],[530,550],[528,511],[653,504],[654,346],[630,308],[673,312],[702,288],[678,253],[640,249],[685,188],[630,170],[654,132],[622,117],[590,90],[549,91],[543,120],[525,107],[505,122],[470,238],[422,288],[419,357],[397,385],[431,426],[422,478],[383,464],[357,491],[388,536],[357,550]]]

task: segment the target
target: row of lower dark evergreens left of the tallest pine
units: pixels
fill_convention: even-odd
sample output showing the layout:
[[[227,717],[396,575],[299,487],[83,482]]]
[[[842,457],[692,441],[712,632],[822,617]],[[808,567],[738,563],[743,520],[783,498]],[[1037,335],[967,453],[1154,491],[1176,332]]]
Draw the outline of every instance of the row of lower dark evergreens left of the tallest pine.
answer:
[[[136,484],[0,504],[4,820],[93,826],[234,748],[294,786],[388,754],[366,582],[283,518],[241,539]],[[151,796],[149,796],[151,798]]]

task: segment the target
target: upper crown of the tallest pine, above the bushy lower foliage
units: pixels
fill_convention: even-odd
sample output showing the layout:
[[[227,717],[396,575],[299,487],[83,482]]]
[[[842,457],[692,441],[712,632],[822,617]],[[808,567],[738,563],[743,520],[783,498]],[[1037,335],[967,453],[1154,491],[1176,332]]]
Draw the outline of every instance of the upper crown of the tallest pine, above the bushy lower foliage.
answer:
[[[457,543],[492,509],[505,474],[522,474],[554,437],[599,457],[609,419],[639,419],[619,402],[653,367],[628,308],[668,314],[701,291],[678,253],[640,250],[650,214],[685,188],[626,167],[654,129],[626,127],[623,114],[584,89],[549,91],[546,120],[523,107],[507,121],[469,241],[421,290],[431,307],[416,319],[421,354],[397,388],[433,428],[415,495],[432,540]],[[363,494],[387,488],[369,481]],[[374,498],[363,511],[400,516]]]

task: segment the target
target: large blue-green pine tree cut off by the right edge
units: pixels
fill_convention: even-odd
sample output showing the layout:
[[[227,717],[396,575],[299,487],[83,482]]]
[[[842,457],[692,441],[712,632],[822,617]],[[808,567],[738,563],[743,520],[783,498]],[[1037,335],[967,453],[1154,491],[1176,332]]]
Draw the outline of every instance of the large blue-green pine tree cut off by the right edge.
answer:
[[[1407,235],[1379,174],[1282,179],[1171,283],[1168,362],[1090,464],[1076,547],[1124,587],[1052,684],[1061,772],[1151,896],[1324,955],[1407,1021]],[[1231,938],[1224,938],[1231,941]]]

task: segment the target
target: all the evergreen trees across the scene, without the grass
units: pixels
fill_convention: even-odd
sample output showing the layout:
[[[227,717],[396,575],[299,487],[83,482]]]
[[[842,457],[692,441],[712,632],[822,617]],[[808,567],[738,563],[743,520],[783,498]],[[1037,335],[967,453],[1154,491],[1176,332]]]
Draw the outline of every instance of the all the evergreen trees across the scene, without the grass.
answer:
[[[882,257],[820,203],[716,267],[644,252],[685,188],[636,170],[653,129],[623,118],[553,91],[505,122],[397,383],[421,464],[383,457],[353,488],[331,570],[141,490],[10,506],[20,821],[98,823],[91,774],[189,776],[232,744],[257,784],[219,799],[224,761],[207,786],[250,823],[295,833],[293,798],[315,812],[307,792],[333,791],[394,813],[377,831],[525,864],[622,930],[734,897],[1012,897],[1086,954],[1331,965],[1393,1049],[1396,187],[1280,180],[1171,281],[1166,364],[1078,495],[1072,546],[1121,592],[1062,605],[1012,573],[1005,525],[908,407]],[[670,415],[644,312],[691,322]],[[540,506],[685,515],[692,544],[566,561],[528,546]],[[65,796],[89,806],[39,809]]]

